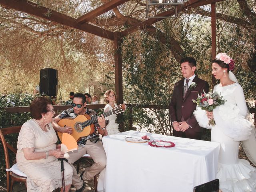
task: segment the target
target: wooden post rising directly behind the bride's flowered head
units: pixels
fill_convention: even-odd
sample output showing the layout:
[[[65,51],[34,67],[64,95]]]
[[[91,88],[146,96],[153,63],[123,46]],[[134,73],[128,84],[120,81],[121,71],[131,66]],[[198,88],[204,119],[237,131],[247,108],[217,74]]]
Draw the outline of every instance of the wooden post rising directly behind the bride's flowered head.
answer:
[[[212,60],[216,57],[216,4],[211,4],[211,16],[212,16]],[[212,88],[216,83],[216,79],[212,75]]]

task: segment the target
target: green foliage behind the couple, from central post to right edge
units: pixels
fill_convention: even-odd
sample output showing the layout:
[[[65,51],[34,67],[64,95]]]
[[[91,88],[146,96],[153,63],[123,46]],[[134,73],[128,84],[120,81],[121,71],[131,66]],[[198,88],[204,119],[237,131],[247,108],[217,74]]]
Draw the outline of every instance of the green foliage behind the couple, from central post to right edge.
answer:
[[[232,2],[235,10],[239,8]],[[225,12],[223,10],[218,10]],[[175,25],[179,23],[179,25]],[[175,26],[175,27],[174,27]],[[212,84],[211,75],[211,20],[196,14],[180,14],[175,20],[165,19],[156,24],[158,31],[152,38],[146,31],[131,34],[123,39],[122,61],[124,100],[126,103],[168,105],[174,83],[182,77],[179,63],[170,51],[176,40],[183,49],[182,56],[193,56],[197,60],[198,76]],[[160,42],[160,30],[164,32],[166,44]],[[226,52],[236,62],[234,74],[244,89],[246,100],[256,97],[255,73],[248,70],[248,50],[252,49],[248,32],[232,23],[217,22],[217,53]],[[246,49],[246,48],[248,49]],[[253,107],[253,106],[251,106]],[[130,114],[129,114],[130,115]],[[129,115],[126,117],[128,118]],[[125,122],[125,121],[124,121]],[[171,134],[167,110],[145,110],[133,108],[133,122],[141,130]],[[126,128],[128,122],[125,124]],[[210,131],[204,131],[204,140],[210,140]]]

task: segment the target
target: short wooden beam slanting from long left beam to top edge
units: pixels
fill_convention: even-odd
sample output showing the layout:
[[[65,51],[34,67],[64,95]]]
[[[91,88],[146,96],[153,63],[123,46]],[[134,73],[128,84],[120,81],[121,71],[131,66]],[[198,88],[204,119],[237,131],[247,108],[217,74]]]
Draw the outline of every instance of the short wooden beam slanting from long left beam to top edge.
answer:
[[[103,4],[102,6],[99,6],[98,8],[92,10],[91,12],[88,12],[85,15],[81,16],[80,18],[76,19],[76,21],[79,24],[83,24],[85,22],[93,20],[97,16],[104,14],[104,13],[108,12],[109,10],[112,10],[113,8],[115,8],[121,4],[124,4],[127,1],[128,0],[111,0],[111,1]]]

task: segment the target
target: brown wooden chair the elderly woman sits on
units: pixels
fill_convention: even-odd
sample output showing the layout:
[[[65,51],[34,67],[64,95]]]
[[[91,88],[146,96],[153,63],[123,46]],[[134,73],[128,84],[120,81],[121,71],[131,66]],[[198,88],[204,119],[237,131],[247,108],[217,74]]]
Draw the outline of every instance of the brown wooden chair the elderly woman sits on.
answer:
[[[7,127],[0,129],[0,139],[4,147],[4,157],[5,157],[5,163],[6,163],[6,175],[7,175],[7,192],[12,191],[12,186],[15,181],[17,182],[24,182],[26,185],[27,178],[24,176],[19,176],[15,174],[14,172],[10,171],[10,159],[9,159],[9,153],[8,149],[11,150],[15,155],[17,153],[17,149],[14,148],[12,145],[10,145],[4,136],[7,134],[15,134],[20,132],[21,126],[15,126],[15,127]],[[16,159],[13,163],[13,165],[16,164]],[[12,165],[12,166],[13,166]]]

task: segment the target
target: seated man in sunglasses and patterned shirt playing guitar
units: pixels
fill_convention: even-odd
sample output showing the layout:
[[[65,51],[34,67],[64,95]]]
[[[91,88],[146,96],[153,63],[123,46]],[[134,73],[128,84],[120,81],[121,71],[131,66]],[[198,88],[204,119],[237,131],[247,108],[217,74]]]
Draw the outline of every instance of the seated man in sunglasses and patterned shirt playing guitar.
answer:
[[[72,133],[71,127],[60,127],[58,125],[58,122],[62,118],[75,118],[81,114],[88,114],[91,118],[93,116],[98,116],[94,110],[86,108],[86,98],[82,93],[77,93],[74,95],[74,99],[71,105],[72,108],[63,111],[54,118],[55,122],[53,121],[52,124],[54,129],[58,132],[66,132],[69,134]],[[94,126],[94,132],[86,137],[82,137],[81,140],[77,143],[78,150],[75,150],[74,152],[68,152],[69,157],[67,159],[73,168],[72,184],[76,188],[76,192],[82,192],[85,188],[84,181],[92,180],[96,174],[101,172],[106,167],[106,154],[102,142],[99,138],[99,134],[107,135],[105,128],[106,122],[103,115],[98,117],[98,123],[95,123]],[[83,172],[81,176],[78,176],[73,163],[80,159],[84,154],[89,154],[95,163],[90,167],[89,170]]]

